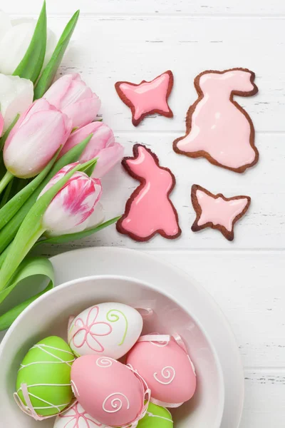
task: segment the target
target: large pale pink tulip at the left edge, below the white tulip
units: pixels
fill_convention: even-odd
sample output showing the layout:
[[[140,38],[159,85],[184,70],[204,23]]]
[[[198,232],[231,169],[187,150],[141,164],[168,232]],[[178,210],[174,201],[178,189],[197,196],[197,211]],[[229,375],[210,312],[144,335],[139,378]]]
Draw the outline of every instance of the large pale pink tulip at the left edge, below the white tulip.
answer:
[[[19,178],[34,177],[70,136],[72,122],[43,98],[21,115],[4,146],[7,170]]]

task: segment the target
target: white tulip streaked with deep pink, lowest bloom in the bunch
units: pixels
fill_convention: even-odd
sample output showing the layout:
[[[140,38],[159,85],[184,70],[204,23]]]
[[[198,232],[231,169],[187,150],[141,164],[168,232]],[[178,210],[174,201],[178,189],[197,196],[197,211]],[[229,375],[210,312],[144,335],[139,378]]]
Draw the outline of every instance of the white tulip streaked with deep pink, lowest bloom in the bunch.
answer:
[[[46,187],[43,188],[38,198],[63,178],[75,165],[76,163],[66,165],[58,171]],[[100,180],[89,178],[86,173],[74,173],[48,205],[43,215],[43,228],[52,235],[61,235],[81,225],[93,214],[101,193]]]

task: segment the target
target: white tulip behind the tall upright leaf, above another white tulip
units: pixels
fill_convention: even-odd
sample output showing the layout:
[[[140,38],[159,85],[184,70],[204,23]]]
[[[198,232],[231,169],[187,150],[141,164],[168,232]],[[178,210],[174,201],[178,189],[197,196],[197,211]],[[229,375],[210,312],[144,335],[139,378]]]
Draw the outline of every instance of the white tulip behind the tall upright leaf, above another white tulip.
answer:
[[[31,43],[36,20],[15,20],[0,11],[0,73],[13,74],[24,58]],[[51,59],[56,47],[56,36],[48,29],[46,58],[43,66]]]

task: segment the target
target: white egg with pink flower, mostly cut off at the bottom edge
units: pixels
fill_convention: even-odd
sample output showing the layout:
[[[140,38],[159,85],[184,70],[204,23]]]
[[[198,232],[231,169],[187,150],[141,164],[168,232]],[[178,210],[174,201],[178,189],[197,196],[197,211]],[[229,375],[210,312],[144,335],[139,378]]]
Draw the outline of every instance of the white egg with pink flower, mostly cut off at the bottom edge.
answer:
[[[71,409],[59,414],[53,428],[104,428],[103,424],[97,422],[88,414],[81,404],[74,404]]]

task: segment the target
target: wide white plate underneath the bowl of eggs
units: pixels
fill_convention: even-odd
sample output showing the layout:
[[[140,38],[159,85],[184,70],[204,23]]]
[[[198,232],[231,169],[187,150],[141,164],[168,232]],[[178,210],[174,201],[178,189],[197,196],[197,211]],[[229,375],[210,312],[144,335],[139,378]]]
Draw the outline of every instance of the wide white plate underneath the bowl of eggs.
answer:
[[[56,285],[89,275],[122,275],[177,293],[201,322],[216,348],[224,374],[225,405],[221,428],[238,428],[244,403],[244,373],[237,342],[212,297],[182,270],[136,250],[84,248],[51,258]]]

